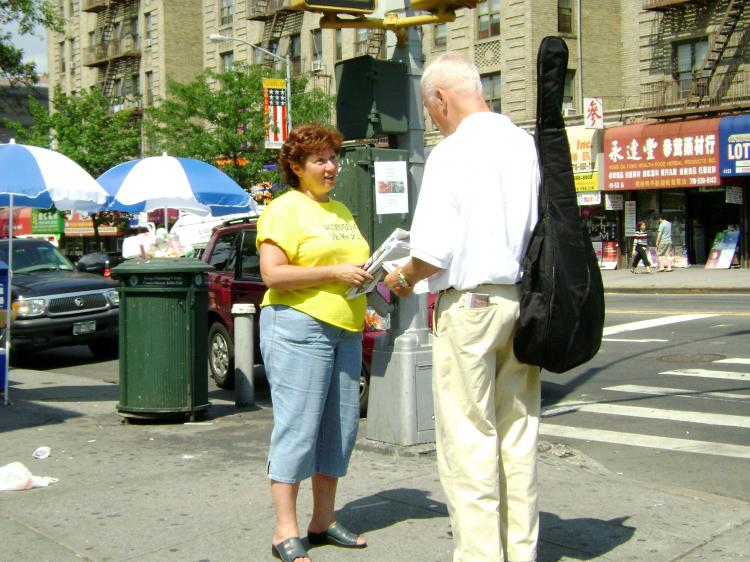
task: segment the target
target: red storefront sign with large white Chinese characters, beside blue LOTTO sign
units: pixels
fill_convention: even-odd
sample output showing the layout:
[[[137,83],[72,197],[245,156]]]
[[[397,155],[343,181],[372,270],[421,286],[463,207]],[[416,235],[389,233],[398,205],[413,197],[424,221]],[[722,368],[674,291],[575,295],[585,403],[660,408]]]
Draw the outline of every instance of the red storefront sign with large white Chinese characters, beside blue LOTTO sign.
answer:
[[[604,190],[720,185],[719,121],[696,119],[604,131]]]

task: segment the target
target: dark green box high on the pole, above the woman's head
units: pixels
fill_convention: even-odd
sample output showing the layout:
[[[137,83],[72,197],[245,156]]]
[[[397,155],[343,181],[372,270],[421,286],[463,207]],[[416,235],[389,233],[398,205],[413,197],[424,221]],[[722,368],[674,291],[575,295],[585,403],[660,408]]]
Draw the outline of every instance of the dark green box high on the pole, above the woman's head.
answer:
[[[347,140],[408,132],[406,65],[369,55],[336,63],[336,126]]]

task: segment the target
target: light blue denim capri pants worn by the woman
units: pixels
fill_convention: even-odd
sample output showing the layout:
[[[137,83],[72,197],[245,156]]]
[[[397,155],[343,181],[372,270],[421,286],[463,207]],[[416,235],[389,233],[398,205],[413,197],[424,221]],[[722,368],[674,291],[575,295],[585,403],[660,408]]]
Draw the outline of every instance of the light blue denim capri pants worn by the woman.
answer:
[[[344,476],[359,427],[362,333],[270,305],[260,313],[260,347],[273,403],[268,478]]]

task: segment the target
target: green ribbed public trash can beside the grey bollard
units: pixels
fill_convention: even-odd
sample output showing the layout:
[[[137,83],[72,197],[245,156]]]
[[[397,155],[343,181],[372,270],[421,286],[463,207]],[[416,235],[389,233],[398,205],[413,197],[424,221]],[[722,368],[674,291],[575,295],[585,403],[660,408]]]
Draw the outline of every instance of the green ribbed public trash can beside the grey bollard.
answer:
[[[191,258],[153,258],[112,270],[120,282],[120,415],[194,420],[209,407],[211,269]]]

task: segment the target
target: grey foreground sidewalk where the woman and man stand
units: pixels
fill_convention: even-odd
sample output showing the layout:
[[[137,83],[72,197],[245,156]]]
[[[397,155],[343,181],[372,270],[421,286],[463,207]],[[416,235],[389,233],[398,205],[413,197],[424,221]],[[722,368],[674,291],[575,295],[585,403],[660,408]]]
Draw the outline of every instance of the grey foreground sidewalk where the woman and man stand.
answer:
[[[1,560],[271,559],[267,388],[246,410],[212,390],[199,423],[122,424],[115,385],[20,369],[10,382],[13,404],[0,405],[0,466],[20,461],[59,482],[0,492]],[[50,457],[32,458],[41,445]],[[338,497],[339,519],[366,533],[370,546],[318,547],[313,560],[452,560],[432,446],[375,449],[360,440]],[[540,561],[750,557],[750,504],[629,480],[565,446],[540,449]],[[299,505],[304,527],[309,484]]]

